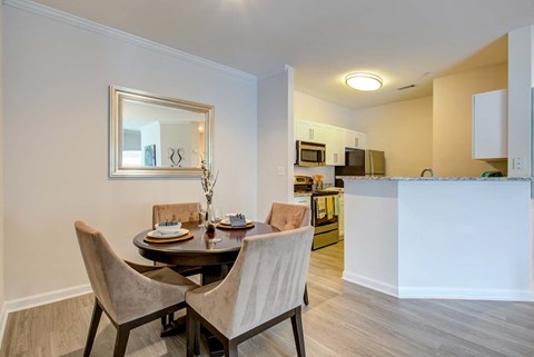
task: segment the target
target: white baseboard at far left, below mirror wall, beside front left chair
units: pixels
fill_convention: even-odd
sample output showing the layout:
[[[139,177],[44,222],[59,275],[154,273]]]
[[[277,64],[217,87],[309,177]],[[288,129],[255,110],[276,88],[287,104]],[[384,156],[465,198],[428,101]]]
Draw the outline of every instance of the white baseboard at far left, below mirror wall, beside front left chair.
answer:
[[[28,296],[20,299],[8,300],[6,301],[4,307],[7,313],[13,313],[28,309],[30,307],[65,300],[89,292],[92,292],[91,286],[89,284],[83,284],[66,289],[59,289],[55,291]]]

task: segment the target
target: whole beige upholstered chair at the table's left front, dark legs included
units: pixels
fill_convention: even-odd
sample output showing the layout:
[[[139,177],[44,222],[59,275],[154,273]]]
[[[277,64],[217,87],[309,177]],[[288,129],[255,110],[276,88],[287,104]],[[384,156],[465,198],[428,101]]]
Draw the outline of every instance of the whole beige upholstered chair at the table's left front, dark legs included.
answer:
[[[89,356],[102,310],[117,328],[113,357],[123,356],[130,329],[186,307],[185,294],[197,285],[164,267],[142,267],[121,260],[98,230],[75,224],[95,308],[83,356]]]

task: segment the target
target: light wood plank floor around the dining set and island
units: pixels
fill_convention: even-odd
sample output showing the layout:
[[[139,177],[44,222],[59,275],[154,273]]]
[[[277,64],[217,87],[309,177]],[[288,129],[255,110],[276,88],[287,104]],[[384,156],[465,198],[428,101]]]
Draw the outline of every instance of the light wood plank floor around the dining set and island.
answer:
[[[534,356],[534,304],[399,300],[343,281],[342,270],[343,242],[313,252],[307,356]],[[91,310],[86,295],[10,314],[0,357],[82,356]],[[105,316],[100,325],[91,356],[111,356],[115,328]],[[185,356],[185,337],[159,330],[159,321],[135,329],[127,356]],[[241,344],[239,356],[296,356],[290,323]]]

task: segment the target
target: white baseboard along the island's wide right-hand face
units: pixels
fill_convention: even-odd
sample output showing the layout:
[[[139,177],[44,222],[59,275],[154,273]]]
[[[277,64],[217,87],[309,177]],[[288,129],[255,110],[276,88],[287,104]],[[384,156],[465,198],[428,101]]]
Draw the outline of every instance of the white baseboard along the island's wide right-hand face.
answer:
[[[398,297],[404,299],[459,299],[459,300],[497,300],[533,301],[531,290],[511,289],[458,289],[458,288],[414,288],[398,287]]]

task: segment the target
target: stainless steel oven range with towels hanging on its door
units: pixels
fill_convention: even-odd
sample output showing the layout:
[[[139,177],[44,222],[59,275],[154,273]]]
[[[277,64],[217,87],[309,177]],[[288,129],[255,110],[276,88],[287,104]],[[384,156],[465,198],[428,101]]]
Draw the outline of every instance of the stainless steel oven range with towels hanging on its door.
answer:
[[[295,176],[294,191],[310,194],[312,226],[315,227],[313,249],[339,241],[339,195],[336,191],[316,191],[314,179]]]

